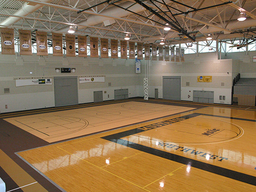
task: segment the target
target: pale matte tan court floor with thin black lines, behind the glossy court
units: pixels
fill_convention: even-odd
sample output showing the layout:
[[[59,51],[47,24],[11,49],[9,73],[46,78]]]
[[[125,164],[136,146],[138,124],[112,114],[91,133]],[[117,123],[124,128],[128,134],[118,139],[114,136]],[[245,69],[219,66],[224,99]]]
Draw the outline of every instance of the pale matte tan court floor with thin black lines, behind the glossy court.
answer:
[[[192,109],[194,108],[130,101],[4,120],[52,143]]]

